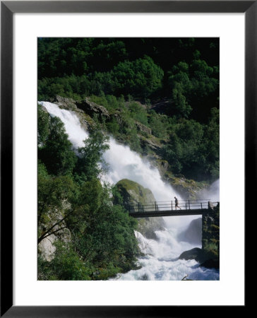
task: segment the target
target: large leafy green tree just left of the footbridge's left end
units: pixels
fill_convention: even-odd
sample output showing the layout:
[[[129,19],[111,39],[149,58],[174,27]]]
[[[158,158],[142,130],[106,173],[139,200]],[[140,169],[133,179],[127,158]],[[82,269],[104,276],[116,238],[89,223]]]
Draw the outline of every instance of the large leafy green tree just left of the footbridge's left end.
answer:
[[[71,225],[76,233],[73,236],[76,251],[86,264],[95,264],[100,269],[113,264],[116,270],[127,270],[138,254],[133,235],[136,220],[121,206],[112,204],[111,190],[101,189],[97,180],[85,182],[82,187],[79,209],[83,211],[83,220]],[[94,279],[101,279],[101,276]]]

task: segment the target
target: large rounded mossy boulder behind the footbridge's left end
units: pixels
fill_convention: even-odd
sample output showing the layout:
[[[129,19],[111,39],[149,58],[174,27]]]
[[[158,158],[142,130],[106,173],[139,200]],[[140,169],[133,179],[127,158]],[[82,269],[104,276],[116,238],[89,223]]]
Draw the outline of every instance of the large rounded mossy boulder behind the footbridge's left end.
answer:
[[[155,201],[153,193],[137,182],[122,179],[116,184],[116,187],[124,204],[138,204],[138,202],[147,204]],[[141,232],[144,237],[157,240],[156,230],[165,230],[163,218],[138,218],[138,232]]]

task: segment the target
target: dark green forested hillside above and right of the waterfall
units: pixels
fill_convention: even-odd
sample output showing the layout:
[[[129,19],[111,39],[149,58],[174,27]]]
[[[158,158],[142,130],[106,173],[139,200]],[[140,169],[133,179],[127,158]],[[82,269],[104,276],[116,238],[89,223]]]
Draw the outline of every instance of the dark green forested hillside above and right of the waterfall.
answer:
[[[122,126],[114,116],[104,125],[116,139],[143,153],[135,119],[160,139],[174,174],[218,177],[218,39],[40,38],[38,76],[38,100],[90,97],[122,110]]]

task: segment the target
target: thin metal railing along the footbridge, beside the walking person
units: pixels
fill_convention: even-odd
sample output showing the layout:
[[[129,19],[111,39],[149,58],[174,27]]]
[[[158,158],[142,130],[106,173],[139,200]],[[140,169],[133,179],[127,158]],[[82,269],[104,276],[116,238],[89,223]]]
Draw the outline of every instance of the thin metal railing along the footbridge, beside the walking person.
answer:
[[[176,207],[175,201],[154,201],[148,204],[124,204],[124,208],[128,213],[157,213],[160,211],[178,211],[179,210],[195,210],[207,209],[212,206],[217,206],[217,202],[211,202],[210,199],[204,200],[179,200]]]

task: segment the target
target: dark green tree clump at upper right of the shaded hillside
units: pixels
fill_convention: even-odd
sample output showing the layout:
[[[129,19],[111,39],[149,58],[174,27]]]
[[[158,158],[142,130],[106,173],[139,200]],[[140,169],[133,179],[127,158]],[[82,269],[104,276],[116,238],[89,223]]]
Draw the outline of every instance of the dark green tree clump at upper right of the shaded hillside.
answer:
[[[218,102],[218,69],[200,59],[200,52],[193,53],[191,64],[180,61],[169,72],[172,109],[174,114],[205,120],[210,108]],[[209,106],[211,105],[211,107]]]

